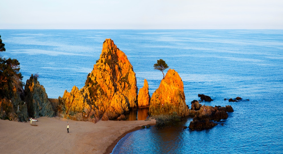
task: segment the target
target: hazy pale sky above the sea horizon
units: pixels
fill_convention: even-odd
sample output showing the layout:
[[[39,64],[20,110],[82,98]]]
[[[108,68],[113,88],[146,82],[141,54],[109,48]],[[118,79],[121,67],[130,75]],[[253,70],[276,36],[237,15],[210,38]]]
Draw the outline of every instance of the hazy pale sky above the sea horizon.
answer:
[[[282,0],[0,0],[0,29],[283,29]]]

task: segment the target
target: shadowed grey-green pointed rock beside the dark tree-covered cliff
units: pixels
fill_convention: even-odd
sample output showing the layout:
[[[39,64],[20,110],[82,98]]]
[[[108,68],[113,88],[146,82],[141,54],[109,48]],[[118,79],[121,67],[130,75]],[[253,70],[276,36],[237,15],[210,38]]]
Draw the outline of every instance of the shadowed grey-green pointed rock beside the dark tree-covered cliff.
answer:
[[[25,85],[25,102],[30,117],[53,117],[54,110],[43,85],[37,81],[37,77],[31,75]]]

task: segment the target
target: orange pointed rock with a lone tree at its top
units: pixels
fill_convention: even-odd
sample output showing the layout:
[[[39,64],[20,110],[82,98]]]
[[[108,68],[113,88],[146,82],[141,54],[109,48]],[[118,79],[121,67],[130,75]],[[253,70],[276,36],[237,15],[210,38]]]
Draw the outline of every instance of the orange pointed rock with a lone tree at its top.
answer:
[[[188,115],[183,81],[174,69],[168,70],[159,88],[153,92],[148,112],[149,115]]]

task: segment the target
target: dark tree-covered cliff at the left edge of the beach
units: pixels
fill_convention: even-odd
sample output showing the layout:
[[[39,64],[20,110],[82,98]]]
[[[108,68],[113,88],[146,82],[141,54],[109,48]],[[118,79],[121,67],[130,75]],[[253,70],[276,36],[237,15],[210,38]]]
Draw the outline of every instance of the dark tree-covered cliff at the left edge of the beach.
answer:
[[[0,51],[6,51],[0,35]],[[12,121],[27,120],[27,105],[23,96],[23,76],[17,59],[0,57],[0,118]],[[19,110],[18,110],[19,108]]]

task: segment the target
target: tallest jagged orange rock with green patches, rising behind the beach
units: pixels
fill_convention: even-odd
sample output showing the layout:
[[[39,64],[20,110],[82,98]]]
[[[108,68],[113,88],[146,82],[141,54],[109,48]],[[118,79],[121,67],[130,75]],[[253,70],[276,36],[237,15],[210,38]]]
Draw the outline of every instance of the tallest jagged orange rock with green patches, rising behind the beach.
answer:
[[[57,115],[92,122],[116,119],[138,107],[136,84],[136,73],[127,56],[106,39],[85,86],[80,90],[74,86],[59,97]]]

